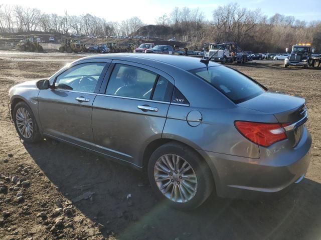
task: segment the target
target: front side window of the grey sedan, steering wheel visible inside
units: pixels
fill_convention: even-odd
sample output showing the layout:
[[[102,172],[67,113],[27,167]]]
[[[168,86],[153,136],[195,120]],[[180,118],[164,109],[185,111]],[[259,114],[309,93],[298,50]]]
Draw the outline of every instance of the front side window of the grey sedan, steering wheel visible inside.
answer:
[[[104,62],[82,63],[61,73],[55,82],[58,89],[94,92]]]

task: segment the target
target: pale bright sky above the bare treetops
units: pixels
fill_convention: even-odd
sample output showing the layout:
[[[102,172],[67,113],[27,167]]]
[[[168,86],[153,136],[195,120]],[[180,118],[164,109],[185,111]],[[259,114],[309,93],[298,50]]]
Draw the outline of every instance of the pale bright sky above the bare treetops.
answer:
[[[19,4],[37,7],[46,13],[70,15],[90,13],[104,17],[107,21],[121,21],[131,16],[138,16],[144,23],[153,24],[155,18],[169,13],[175,6],[199,7],[207,19],[212,19],[212,11],[218,5],[238,2],[241,7],[261,8],[268,16],[274,13],[293,15],[300,20],[321,20],[321,0],[0,0],[4,4]]]

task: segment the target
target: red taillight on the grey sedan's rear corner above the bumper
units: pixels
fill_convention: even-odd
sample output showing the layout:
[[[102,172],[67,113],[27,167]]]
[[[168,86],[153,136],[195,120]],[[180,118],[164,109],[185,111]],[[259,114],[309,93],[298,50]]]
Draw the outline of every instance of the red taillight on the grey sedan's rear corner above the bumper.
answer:
[[[262,146],[269,146],[276,141],[286,139],[283,129],[288,124],[235,121],[235,127],[250,141]]]

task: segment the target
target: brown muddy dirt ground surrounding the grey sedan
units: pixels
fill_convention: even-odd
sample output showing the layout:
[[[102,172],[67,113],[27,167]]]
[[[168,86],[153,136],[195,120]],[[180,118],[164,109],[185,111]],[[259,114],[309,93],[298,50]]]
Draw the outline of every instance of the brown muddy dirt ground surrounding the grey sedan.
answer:
[[[8,187],[0,188],[1,239],[321,239],[321,68],[284,68],[282,61],[230,65],[272,90],[306,99],[310,166],[281,199],[213,194],[198,209],[181,212],[156,201],[142,172],[64,143],[19,139],[8,116],[10,87],[84,55],[0,51],[0,186]],[[17,184],[8,179],[15,175]],[[86,192],[88,199],[71,204]]]

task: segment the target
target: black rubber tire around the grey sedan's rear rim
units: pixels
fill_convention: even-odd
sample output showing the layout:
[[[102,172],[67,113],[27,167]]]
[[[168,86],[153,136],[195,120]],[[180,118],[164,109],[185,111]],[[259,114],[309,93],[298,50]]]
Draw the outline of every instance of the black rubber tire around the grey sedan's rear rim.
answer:
[[[169,199],[161,192],[161,190],[159,190],[156,184],[154,179],[154,166],[156,161],[165,154],[179,155],[190,164],[195,172],[197,178],[197,190],[195,195],[186,202],[175,202],[174,200]],[[189,210],[200,206],[209,197],[214,186],[211,170],[205,160],[189,146],[174,141],[159,146],[151,154],[148,162],[147,173],[151,188],[155,192],[156,196],[170,206],[181,210]]]

